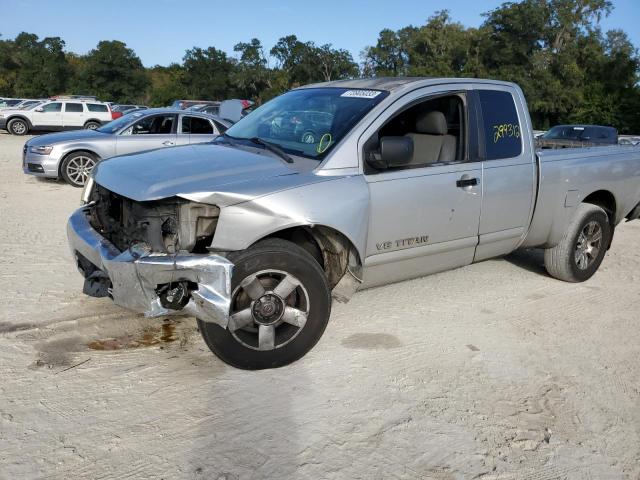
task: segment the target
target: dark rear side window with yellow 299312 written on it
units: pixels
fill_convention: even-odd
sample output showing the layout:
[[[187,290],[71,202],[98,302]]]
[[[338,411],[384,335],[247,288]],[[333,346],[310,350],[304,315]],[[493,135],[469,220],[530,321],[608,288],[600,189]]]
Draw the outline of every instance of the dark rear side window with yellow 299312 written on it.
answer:
[[[522,153],[522,130],[516,104],[509,92],[480,90],[487,160],[517,157]]]

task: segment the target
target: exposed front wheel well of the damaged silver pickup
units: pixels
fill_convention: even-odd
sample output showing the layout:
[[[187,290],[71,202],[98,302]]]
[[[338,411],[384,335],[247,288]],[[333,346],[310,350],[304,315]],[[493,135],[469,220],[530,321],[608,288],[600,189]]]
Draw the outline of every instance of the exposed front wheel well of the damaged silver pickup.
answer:
[[[320,264],[327,275],[329,287],[333,288],[349,268],[360,274],[362,263],[358,251],[351,241],[339,231],[315,225],[287,228],[272,233],[266,238],[288,240],[306,250]]]

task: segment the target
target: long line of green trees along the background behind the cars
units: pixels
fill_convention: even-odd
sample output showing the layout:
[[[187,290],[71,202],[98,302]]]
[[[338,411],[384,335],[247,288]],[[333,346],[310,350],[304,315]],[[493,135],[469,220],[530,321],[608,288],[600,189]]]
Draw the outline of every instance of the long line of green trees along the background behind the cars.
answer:
[[[59,37],[0,39],[0,96],[85,93],[152,106],[177,98],[247,98],[259,104],[298,85],[369,76],[494,78],[524,90],[536,128],[598,123],[640,133],[638,52],[621,30],[603,32],[609,0],[521,0],[484,14],[478,28],[436,12],[424,25],[382,30],[361,62],[295,35],[270,49],[253,38],[231,55],[194,47],[182,63],[145,68],[120,41],[86,55]]]

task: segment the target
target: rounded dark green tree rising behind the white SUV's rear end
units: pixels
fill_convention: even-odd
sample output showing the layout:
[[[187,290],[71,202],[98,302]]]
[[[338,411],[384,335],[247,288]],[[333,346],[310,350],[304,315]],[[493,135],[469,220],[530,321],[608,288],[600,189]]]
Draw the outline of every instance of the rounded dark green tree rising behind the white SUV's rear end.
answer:
[[[101,41],[84,60],[78,88],[103,100],[137,103],[149,85],[144,67],[135,52],[125,43]]]

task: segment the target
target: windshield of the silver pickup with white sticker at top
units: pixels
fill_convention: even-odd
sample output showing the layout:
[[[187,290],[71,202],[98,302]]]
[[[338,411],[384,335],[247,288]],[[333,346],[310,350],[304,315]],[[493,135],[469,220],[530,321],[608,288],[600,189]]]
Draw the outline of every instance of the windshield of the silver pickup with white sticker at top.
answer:
[[[260,138],[287,153],[320,160],[387,95],[347,88],[293,90],[239,120],[226,135],[232,140]]]

